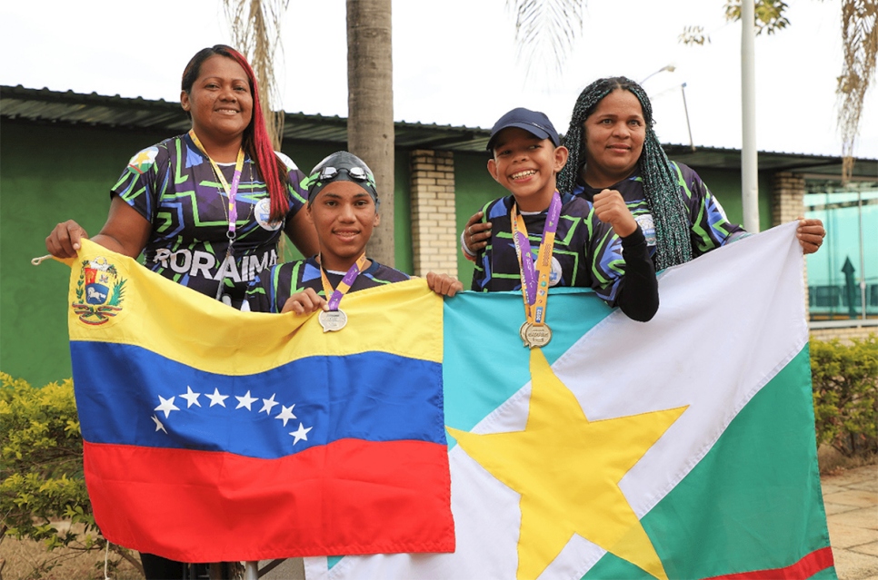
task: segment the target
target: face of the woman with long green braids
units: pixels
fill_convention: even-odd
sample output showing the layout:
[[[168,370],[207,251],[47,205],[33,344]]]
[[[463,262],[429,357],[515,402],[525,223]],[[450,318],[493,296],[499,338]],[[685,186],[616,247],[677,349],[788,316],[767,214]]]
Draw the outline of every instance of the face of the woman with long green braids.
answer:
[[[616,89],[607,94],[583,129],[586,183],[609,187],[634,172],[646,139],[644,109],[634,93]]]

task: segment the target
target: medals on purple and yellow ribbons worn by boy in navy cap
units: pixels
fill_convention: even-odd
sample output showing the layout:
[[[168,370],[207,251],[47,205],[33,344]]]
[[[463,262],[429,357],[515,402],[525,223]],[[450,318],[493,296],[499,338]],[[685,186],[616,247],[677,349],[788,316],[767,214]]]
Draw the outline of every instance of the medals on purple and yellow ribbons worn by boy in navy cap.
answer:
[[[518,256],[519,273],[522,279],[522,296],[524,297],[524,314],[526,321],[518,333],[528,349],[544,347],[552,339],[552,329],[545,323],[546,307],[549,300],[549,276],[552,273],[552,251],[554,250],[554,234],[558,230],[558,219],[561,216],[561,195],[554,192],[549,211],[546,212],[543,237],[536,254],[531,252],[531,242],[527,238],[527,227],[524,217],[518,213],[513,203],[510,215],[512,221],[515,253]]]

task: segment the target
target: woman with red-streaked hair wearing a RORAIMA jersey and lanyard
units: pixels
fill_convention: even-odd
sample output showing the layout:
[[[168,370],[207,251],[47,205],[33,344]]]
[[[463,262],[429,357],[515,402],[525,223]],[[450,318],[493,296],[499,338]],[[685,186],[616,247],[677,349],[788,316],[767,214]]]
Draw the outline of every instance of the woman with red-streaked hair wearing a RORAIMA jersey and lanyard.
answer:
[[[93,241],[133,258],[143,252],[147,268],[245,309],[247,284],[277,262],[281,231],[304,255],[317,251],[299,211],[304,174],[274,152],[253,69],[233,48],[216,44],[192,57],[180,103],[192,129],[132,157]],[[87,237],[65,221],[45,246],[69,258]]]

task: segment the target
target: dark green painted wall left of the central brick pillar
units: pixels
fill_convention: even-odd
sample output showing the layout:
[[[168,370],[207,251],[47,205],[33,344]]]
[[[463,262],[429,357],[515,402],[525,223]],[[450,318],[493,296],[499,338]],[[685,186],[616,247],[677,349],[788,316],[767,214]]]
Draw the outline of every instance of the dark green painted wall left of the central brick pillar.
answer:
[[[45,254],[45,237],[74,219],[95,235],[106,219],[110,187],[135,152],[166,133],[4,120],[0,131],[0,371],[34,386],[69,378],[66,287],[69,270]],[[338,150],[333,143],[284,143],[304,172]],[[396,263],[411,272],[408,156],[398,155],[394,198]],[[384,223],[380,227],[389,227]],[[301,255],[285,242],[286,259]]]

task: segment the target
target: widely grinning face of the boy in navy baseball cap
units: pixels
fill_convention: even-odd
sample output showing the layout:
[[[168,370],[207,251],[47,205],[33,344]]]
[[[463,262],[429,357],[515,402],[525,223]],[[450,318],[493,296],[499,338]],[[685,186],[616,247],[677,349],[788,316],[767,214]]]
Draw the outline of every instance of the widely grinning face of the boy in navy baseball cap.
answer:
[[[550,139],[540,139],[518,127],[504,129],[494,139],[494,159],[488,161],[494,180],[515,196],[520,210],[548,208],[555,174],[567,162],[566,147],[555,147]]]

